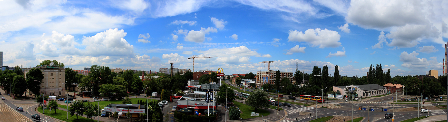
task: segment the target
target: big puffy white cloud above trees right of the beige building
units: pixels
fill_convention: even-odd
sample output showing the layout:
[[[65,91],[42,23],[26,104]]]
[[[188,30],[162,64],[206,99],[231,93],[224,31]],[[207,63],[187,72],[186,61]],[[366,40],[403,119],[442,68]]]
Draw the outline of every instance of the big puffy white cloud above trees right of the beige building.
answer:
[[[123,37],[125,30],[109,29],[90,37],[82,39],[82,45],[86,46],[86,55],[89,56],[123,56],[133,57],[134,46],[130,45]]]

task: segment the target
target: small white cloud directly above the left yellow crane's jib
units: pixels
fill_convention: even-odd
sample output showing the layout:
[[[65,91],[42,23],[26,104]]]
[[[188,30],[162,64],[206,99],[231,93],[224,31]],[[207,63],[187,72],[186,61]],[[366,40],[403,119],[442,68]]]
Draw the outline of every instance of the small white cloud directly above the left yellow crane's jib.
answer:
[[[188,32],[188,34],[185,35],[184,39],[185,39],[185,41],[201,43],[201,42],[204,42],[205,35],[210,34],[210,32],[216,33],[216,32],[218,32],[218,30],[216,30],[216,28],[213,28],[213,27],[207,27],[207,28],[201,27],[201,30],[190,30]]]

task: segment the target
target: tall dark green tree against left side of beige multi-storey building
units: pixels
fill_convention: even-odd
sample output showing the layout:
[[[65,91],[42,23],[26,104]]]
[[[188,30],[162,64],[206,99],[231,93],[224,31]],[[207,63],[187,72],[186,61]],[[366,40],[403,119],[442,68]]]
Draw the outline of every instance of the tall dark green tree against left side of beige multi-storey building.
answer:
[[[41,83],[34,80],[40,82],[43,80],[43,73],[39,68],[31,68],[28,70],[28,73],[26,73],[26,87],[34,93],[34,96],[38,96],[40,95],[39,90]]]

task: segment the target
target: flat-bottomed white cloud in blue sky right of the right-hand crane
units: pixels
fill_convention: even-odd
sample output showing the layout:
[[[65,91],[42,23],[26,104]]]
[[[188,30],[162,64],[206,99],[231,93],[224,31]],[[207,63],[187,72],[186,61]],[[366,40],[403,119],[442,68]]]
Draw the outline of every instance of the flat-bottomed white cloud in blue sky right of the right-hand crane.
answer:
[[[332,47],[336,48],[341,46],[339,42],[340,35],[337,31],[327,29],[308,29],[303,33],[302,31],[289,30],[288,41],[289,42],[306,42],[311,44],[312,47],[319,46],[319,48]]]

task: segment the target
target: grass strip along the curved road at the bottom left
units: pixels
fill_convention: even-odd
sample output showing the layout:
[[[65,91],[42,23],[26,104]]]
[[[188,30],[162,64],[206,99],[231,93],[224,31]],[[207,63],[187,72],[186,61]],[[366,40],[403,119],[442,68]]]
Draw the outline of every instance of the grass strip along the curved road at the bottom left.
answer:
[[[42,113],[42,107],[37,108],[37,110]],[[45,115],[53,117],[53,118],[57,118],[60,119],[62,121],[67,121],[67,122],[93,122],[94,120],[90,119],[90,118],[85,118],[85,117],[80,117],[78,116],[78,119],[76,119],[76,116],[73,115],[72,117],[70,117],[69,115],[69,120],[67,120],[67,112],[63,111],[63,110],[56,110],[56,113],[54,110],[52,110],[51,112],[48,112],[48,109],[45,110]]]

